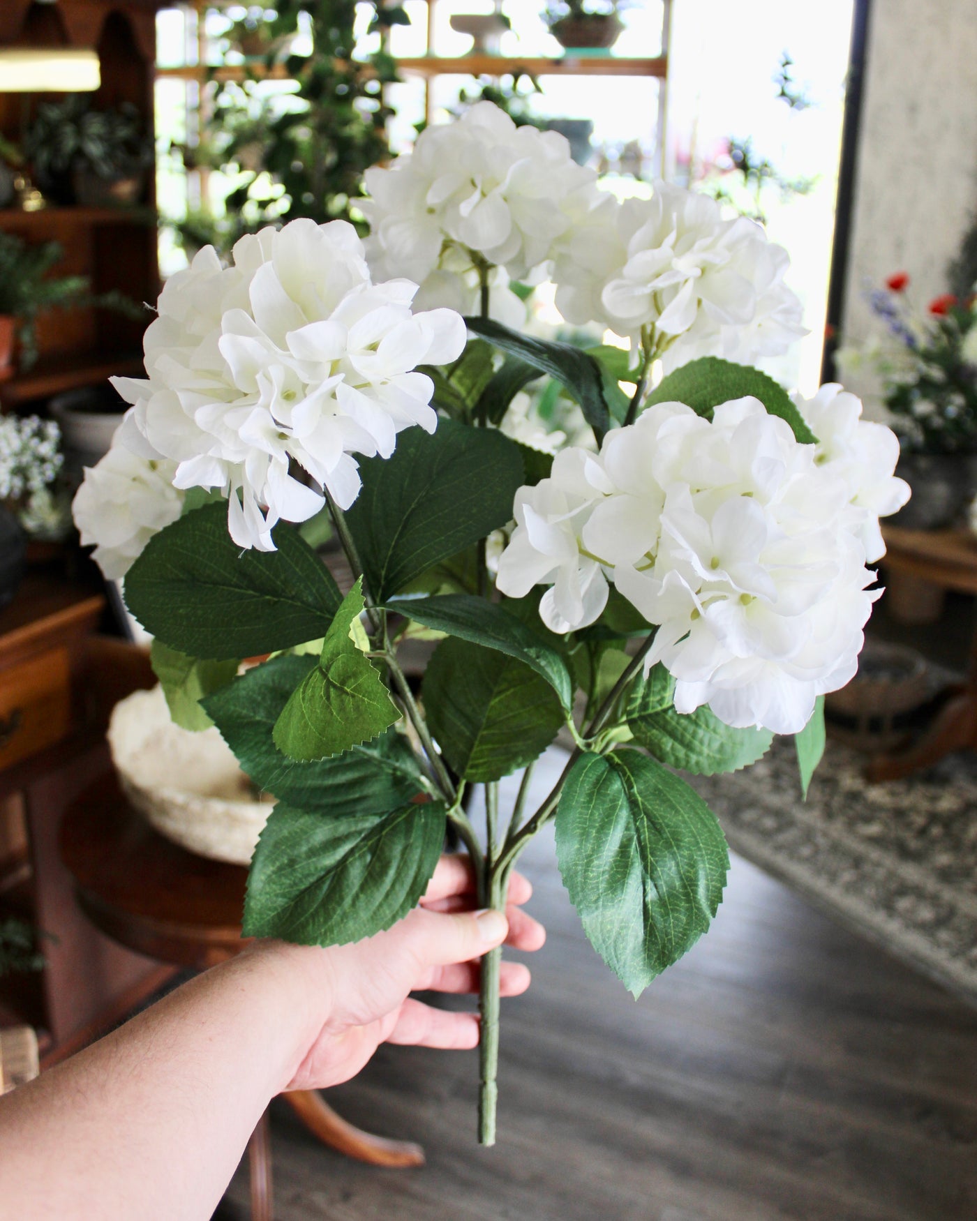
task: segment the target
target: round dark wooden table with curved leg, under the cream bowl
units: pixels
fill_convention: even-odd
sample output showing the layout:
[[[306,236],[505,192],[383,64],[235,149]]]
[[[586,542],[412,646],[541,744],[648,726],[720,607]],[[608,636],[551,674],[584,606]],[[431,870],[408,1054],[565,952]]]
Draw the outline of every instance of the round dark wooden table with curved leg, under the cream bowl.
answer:
[[[248,871],[210,861],[153,830],[126,802],[115,773],[105,773],[70,806],[61,823],[61,856],[78,904],[121,945],[181,967],[204,968],[238,954]],[[410,1142],[361,1132],[316,1090],[282,1095],[325,1144],[376,1166],[420,1166]],[[252,1217],[271,1219],[267,1118],[252,1137]]]

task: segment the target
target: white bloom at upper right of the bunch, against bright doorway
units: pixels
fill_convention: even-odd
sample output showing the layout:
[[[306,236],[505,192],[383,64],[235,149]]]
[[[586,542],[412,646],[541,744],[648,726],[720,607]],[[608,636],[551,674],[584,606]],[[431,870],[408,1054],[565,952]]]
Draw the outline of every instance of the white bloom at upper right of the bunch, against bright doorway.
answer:
[[[747,364],[807,333],[786,252],[754,221],[723,220],[714,199],[657,182],[651,199],[576,205],[554,265],[568,321],[601,322],[635,349],[655,327],[666,372],[703,355]]]

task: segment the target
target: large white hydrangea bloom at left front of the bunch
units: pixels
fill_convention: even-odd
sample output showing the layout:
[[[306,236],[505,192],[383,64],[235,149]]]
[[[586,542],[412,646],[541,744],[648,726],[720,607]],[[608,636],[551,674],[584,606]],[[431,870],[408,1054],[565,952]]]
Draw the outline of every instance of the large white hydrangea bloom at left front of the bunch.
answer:
[[[112,379],[178,488],[219,488],[242,547],[272,549],[280,519],[354,501],[353,454],[388,458],[397,433],[432,432],[431,380],[464,348],[451,310],[412,314],[416,286],[372,284],[344,221],[297,220],[242,238],[230,267],[211,247],[172,276],[145,333],[148,380]],[[316,487],[293,476],[302,466]]]

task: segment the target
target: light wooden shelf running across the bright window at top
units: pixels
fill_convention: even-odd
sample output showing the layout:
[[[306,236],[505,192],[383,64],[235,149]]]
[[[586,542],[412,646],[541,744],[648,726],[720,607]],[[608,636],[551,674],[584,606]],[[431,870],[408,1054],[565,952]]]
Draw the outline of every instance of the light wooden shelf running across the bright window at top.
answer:
[[[397,67],[408,76],[503,76],[507,72],[528,72],[530,76],[630,76],[663,79],[668,72],[668,59],[625,59],[623,55],[603,55],[592,51],[567,51],[558,59],[536,55],[515,59],[504,55],[460,55],[447,59],[440,55],[421,55],[416,59],[399,59]],[[158,77],[176,77],[183,81],[288,81],[285,66],[276,63],[271,70],[263,63],[228,65],[215,67],[206,63],[183,68],[156,68]]]

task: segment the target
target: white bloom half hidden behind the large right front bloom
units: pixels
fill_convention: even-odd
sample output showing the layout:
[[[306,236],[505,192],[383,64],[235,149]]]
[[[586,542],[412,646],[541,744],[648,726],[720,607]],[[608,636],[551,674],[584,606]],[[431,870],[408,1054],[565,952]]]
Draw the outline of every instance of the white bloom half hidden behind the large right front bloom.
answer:
[[[818,438],[815,462],[845,482],[852,529],[865,547],[865,558],[874,564],[885,554],[878,519],[901,509],[911,491],[893,474],[899,438],[884,424],[862,420],[861,399],[838,382],[826,383],[813,398],[791,397]]]

